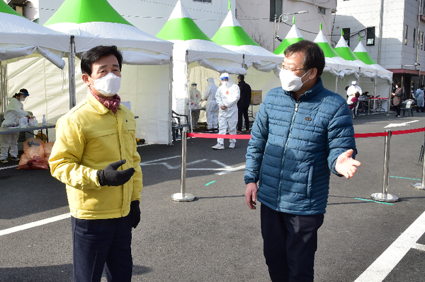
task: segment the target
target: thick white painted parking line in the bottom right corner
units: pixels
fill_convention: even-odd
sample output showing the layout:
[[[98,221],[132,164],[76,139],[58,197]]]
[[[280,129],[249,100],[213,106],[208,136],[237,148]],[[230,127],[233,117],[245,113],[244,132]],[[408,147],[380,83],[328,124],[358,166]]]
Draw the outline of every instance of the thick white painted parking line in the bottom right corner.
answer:
[[[416,241],[425,233],[425,212],[383,252],[354,282],[381,282],[409,252],[420,249]]]

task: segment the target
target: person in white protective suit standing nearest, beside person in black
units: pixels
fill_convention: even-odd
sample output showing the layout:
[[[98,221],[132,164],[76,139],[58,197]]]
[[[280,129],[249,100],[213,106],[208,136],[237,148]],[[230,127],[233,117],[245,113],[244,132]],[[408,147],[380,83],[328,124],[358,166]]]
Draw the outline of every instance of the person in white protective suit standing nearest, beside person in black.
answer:
[[[237,101],[240,97],[240,89],[232,82],[229,74],[220,76],[222,85],[215,93],[215,100],[219,107],[218,112],[218,134],[236,134],[237,125]],[[225,148],[225,139],[217,138],[217,145],[213,149],[222,150]],[[234,148],[236,139],[230,139],[229,148]]]

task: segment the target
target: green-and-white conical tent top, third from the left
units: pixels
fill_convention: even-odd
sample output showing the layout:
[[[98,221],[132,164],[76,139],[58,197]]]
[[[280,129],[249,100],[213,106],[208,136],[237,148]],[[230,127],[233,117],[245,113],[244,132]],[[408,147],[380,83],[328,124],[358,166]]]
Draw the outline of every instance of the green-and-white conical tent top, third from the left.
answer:
[[[192,20],[186,8],[177,1],[169,20],[165,23],[164,27],[159,30],[157,37],[162,40],[208,40],[210,38],[203,33],[202,30]]]

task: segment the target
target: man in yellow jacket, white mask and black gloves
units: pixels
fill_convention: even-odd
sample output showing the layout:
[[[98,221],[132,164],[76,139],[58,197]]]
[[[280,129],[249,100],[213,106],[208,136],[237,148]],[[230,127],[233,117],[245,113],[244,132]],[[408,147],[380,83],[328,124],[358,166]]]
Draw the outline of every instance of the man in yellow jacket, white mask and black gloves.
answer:
[[[67,184],[74,281],[131,281],[131,232],[140,222],[142,170],[135,117],[120,105],[123,57],[98,46],[81,58],[86,100],[56,124],[49,163]]]

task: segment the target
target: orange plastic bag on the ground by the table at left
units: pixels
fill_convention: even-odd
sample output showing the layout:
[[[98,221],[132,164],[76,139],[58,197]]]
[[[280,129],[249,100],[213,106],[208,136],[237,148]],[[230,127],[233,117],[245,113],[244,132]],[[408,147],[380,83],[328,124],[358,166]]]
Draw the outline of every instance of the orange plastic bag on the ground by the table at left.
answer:
[[[30,138],[23,142],[23,154],[19,160],[19,170],[48,170],[45,162],[44,142]]]

